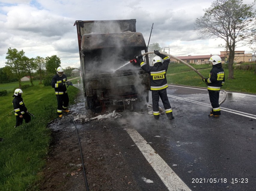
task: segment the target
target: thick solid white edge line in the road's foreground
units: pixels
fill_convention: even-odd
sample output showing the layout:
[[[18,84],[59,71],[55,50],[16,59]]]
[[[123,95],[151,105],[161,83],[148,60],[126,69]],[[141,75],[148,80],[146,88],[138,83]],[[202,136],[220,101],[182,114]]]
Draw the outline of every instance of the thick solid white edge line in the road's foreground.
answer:
[[[134,143],[138,146],[148,163],[170,191],[191,191],[189,187],[173,172],[165,161],[147,144],[145,139],[135,130],[126,129]]]

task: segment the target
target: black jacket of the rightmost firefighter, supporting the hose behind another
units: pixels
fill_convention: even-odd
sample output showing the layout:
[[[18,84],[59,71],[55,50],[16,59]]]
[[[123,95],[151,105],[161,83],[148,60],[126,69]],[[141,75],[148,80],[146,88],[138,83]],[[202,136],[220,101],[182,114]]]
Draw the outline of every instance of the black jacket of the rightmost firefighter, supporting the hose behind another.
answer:
[[[225,82],[224,70],[221,63],[212,65],[212,70],[210,71],[209,78],[204,80],[208,83],[208,91],[220,91],[221,86]]]

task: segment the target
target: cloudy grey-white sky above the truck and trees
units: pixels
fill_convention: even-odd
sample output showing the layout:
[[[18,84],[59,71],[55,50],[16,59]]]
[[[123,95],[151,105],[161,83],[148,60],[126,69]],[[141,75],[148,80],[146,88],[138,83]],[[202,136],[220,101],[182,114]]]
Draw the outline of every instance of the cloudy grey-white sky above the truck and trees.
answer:
[[[61,66],[80,67],[76,20],[136,19],[136,31],[146,44],[159,43],[173,56],[220,54],[224,42],[194,31],[196,19],[213,0],[0,0],[0,68],[8,48],[25,56],[57,55]],[[244,0],[251,4],[253,0]],[[251,53],[247,46],[236,50]]]

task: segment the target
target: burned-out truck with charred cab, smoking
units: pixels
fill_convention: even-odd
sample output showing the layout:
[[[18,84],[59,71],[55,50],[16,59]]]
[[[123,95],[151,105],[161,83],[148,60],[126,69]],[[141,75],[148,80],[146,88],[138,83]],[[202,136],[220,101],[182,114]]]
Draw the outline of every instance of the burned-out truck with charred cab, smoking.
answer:
[[[130,60],[148,49],[143,35],[136,32],[136,19],[77,20],[75,25],[86,108],[99,113],[143,107],[148,102],[149,75]]]

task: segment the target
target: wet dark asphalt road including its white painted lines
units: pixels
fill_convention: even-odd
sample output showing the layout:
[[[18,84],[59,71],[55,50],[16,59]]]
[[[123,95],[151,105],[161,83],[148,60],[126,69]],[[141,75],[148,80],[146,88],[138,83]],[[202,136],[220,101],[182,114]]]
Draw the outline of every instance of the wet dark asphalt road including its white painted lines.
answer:
[[[206,89],[169,85],[167,93],[175,119],[133,117],[125,129],[166,190],[256,190],[256,95],[221,92],[215,119]]]

